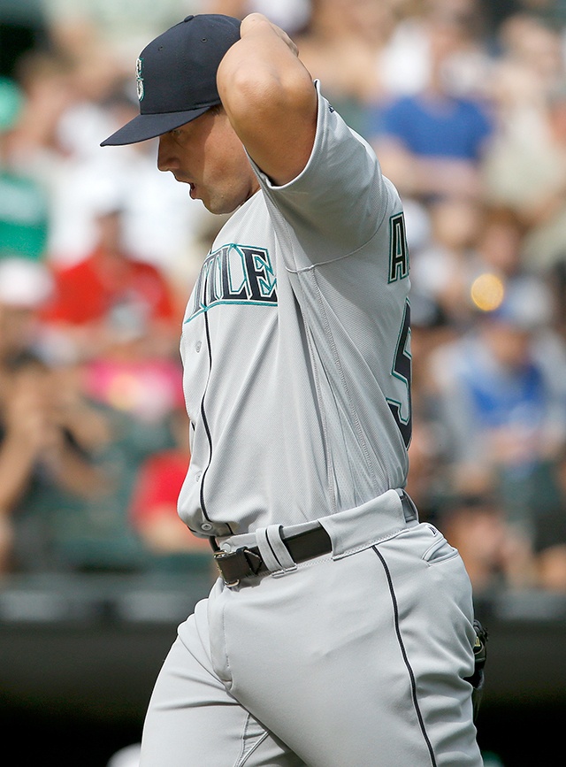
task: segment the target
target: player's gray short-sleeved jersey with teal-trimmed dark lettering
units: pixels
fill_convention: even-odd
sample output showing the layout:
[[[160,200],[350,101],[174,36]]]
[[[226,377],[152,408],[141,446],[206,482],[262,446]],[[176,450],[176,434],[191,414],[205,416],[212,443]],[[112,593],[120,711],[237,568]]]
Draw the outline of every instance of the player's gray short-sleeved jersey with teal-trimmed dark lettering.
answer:
[[[320,94],[304,171],[283,187],[256,173],[261,190],[218,234],[184,318],[179,511],[201,535],[325,517],[403,487],[408,466],[397,192]]]

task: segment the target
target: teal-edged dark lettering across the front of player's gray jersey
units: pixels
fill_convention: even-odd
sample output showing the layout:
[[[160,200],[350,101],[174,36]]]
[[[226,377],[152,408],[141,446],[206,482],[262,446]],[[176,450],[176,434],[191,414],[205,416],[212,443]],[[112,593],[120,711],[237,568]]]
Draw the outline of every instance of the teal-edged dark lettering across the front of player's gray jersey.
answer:
[[[277,279],[269,253],[249,245],[224,245],[206,258],[186,322],[229,303],[277,305]]]

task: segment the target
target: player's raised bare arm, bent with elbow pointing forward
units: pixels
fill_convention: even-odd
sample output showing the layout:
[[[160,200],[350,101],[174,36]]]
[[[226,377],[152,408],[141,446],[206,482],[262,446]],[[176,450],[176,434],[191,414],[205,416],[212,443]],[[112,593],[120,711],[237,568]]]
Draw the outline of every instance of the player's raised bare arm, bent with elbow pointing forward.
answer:
[[[282,29],[251,13],[240,34],[218,67],[218,93],[250,157],[273,183],[283,185],[309,160],[317,93]]]

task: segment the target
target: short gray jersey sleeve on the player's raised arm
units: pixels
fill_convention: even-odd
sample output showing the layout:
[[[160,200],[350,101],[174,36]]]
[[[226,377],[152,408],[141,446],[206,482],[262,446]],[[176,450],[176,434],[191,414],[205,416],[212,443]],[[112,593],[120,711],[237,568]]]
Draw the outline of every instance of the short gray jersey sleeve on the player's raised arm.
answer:
[[[318,94],[317,132],[310,159],[294,180],[275,186],[254,165],[270,212],[282,219],[301,242],[289,254],[290,269],[300,270],[348,256],[370,242],[401,203],[381,174],[371,146]],[[281,222],[274,220],[274,225]],[[308,255],[307,255],[308,254]]]

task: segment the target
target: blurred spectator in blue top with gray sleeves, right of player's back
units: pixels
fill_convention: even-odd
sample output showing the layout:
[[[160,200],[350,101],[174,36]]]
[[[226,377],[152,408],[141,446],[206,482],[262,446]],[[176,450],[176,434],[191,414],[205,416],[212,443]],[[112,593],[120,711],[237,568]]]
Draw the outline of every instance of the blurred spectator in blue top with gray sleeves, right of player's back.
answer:
[[[550,302],[539,280],[508,280],[501,305],[431,357],[452,487],[493,489],[506,521],[529,541],[539,466],[566,436],[566,354],[548,330]]]

